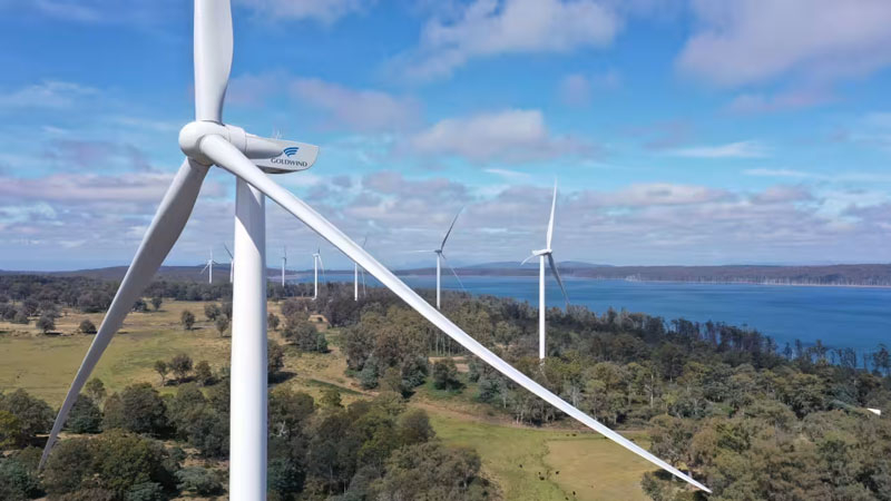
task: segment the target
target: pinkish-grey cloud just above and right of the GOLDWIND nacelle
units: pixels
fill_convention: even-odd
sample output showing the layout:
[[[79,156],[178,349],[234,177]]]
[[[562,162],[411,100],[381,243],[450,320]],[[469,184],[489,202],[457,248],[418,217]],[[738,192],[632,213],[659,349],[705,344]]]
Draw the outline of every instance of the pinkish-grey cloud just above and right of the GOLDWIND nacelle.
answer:
[[[300,78],[292,94],[307,105],[322,108],[339,124],[353,130],[403,129],[418,122],[420,104],[380,90],[354,90],[317,78]]]

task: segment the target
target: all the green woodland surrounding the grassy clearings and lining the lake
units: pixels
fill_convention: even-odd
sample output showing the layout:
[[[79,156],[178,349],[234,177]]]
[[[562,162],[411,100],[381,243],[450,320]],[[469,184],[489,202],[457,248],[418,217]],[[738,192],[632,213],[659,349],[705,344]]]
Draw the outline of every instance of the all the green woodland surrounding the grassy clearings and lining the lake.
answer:
[[[101,310],[115,287],[75,277],[2,276],[0,313],[31,322],[62,307]],[[228,284],[156,282],[134,307],[151,307],[154,298],[219,301],[210,315],[225,318],[229,293]],[[423,411],[407,409],[425,381],[456,395],[473,389],[464,396],[518,423],[577,429],[385,289],[370,288],[359,302],[352,284],[326,284],[316,302],[306,301],[310,294],[305,285],[271,284],[268,297],[281,302],[283,318],[271,315],[270,327],[301,351],[324,352],[324,335],[306,317],[325,315],[341,332],[347,375],[378,396],[344,406],[336,390],[315,402],[273,384],[273,499],[498,499],[498,485],[481,473],[473,451],[442,445]],[[549,353],[539,364],[537,310],[529,304],[447,293],[443,305],[459,326],[568,402],[610,428],[646,430],[656,455],[714,490],[707,499],[891,500],[889,413],[868,411],[891,404],[891,355],[883,345],[860,356],[823,343],[777,346],[756,331],[719,322],[570,306],[548,312]],[[274,383],[281,352],[270,353]],[[469,361],[466,372],[457,369],[458,356]],[[0,498],[218,493],[224,473],[184,465],[183,451],[225,458],[227,371],[158,362],[160,384],[168,384],[170,367],[179,367],[172,373],[175,394],[160,396],[140,384],[106,395],[101,382],[91,382],[67,424],[70,438],[40,474],[36,448],[55,411],[26,391],[4,393],[0,442],[9,452],[0,462]],[[116,455],[123,453],[126,461]],[[660,473],[640,482],[654,500],[706,499]]]

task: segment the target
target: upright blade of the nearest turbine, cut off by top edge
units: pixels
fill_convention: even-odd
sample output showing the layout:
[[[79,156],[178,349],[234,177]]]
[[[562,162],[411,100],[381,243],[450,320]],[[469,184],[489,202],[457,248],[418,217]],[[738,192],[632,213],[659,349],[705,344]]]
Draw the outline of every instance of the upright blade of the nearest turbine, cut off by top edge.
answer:
[[[195,0],[195,119],[223,121],[232,70],[229,0]]]

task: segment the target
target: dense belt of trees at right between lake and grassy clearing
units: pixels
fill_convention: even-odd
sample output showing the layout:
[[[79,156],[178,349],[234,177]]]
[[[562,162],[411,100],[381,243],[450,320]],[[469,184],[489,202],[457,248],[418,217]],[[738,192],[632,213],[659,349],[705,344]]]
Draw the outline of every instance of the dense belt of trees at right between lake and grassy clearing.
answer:
[[[350,304],[352,305],[350,305]],[[652,450],[703,480],[722,500],[891,500],[889,352],[796,342],[756,331],[628,312],[548,312],[548,358],[537,357],[537,311],[512,299],[447,295],[444,313],[552,392],[616,428],[646,428]],[[398,301],[332,295],[320,306],[344,327],[347,364],[365,387],[411,394],[431,354],[467,355]],[[518,422],[567,421],[471,357],[431,372],[438,387],[467,382],[473,396]],[[866,410],[884,410],[879,418]],[[657,500],[694,499],[660,474]]]

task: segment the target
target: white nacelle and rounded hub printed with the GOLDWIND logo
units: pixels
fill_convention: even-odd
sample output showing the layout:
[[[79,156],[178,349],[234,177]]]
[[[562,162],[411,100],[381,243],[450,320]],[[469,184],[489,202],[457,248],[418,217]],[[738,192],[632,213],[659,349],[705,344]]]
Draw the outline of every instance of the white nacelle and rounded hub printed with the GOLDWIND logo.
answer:
[[[305,143],[255,136],[241,127],[210,120],[196,120],[179,130],[179,149],[195,161],[212,165],[202,153],[202,140],[219,136],[238,148],[254,165],[267,174],[287,174],[306,170],[315,164],[319,147]]]

